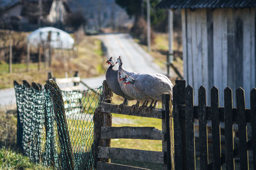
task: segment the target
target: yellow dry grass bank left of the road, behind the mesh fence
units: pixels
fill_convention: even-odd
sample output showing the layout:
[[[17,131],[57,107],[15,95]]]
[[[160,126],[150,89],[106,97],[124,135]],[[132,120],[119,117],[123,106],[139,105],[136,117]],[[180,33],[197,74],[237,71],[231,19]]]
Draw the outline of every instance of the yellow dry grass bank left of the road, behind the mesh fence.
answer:
[[[0,62],[0,89],[13,87],[13,80],[44,84],[49,71],[58,78],[65,77],[65,73],[73,76],[75,71],[79,71],[82,78],[99,76],[106,71],[101,42],[90,36],[83,36],[76,52],[63,50],[60,54],[58,50],[52,50],[51,68],[41,63],[40,71],[37,63],[29,64],[28,72],[26,72],[26,64],[13,64],[13,73],[8,73],[8,64]]]

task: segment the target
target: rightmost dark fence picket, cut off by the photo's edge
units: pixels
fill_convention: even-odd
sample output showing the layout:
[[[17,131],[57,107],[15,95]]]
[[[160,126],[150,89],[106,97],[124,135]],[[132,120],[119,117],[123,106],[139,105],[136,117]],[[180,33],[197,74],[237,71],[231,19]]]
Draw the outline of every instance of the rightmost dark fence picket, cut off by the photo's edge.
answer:
[[[251,124],[252,124],[252,151],[253,167],[256,167],[256,89],[252,89],[250,94],[251,101]]]

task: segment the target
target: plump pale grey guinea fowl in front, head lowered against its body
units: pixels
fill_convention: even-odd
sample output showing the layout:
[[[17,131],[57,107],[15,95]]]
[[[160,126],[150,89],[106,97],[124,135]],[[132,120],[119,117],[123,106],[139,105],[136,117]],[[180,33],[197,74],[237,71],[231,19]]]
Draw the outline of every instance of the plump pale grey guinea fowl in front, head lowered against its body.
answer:
[[[123,76],[124,73],[121,73],[121,77]],[[124,86],[120,85],[120,87],[125,94],[134,99],[141,100],[136,96],[140,94],[140,97],[143,96],[145,101],[152,100],[150,106],[148,106],[148,108],[152,109],[156,106],[157,101],[162,101],[161,95],[163,93],[172,94],[173,85],[169,78],[163,74],[132,74],[125,78]],[[137,94],[137,92],[139,93]],[[147,105],[143,107],[147,107]]]

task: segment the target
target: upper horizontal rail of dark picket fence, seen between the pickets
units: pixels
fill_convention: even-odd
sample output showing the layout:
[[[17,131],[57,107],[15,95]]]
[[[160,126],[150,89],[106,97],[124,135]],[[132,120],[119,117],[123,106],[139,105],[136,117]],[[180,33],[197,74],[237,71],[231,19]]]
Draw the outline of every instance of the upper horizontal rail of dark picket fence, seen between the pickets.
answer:
[[[180,117],[185,118],[185,104],[179,105],[179,113]],[[220,122],[224,122],[224,108],[220,107]],[[207,106],[206,107],[206,113],[207,113],[207,120],[211,120],[211,107]],[[245,110],[245,115],[246,115],[246,123],[251,122],[251,117],[250,117],[251,111],[249,109]],[[237,122],[237,108],[232,109],[232,115],[233,115],[233,122]],[[194,118],[198,119],[198,106],[194,106]]]

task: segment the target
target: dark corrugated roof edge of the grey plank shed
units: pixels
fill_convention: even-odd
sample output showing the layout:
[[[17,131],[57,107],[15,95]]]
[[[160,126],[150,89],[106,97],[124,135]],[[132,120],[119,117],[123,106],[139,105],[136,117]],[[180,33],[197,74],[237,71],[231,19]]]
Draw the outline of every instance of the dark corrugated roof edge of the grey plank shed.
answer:
[[[162,0],[157,8],[249,8],[256,7],[255,0]]]

